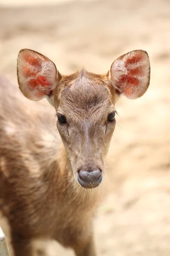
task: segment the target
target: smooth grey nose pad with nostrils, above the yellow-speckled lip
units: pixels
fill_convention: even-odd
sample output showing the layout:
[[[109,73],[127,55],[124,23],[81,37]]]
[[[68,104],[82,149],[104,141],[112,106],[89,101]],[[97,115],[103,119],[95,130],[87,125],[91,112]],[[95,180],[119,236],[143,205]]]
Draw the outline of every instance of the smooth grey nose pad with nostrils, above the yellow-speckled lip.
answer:
[[[91,172],[80,170],[79,177],[85,182],[93,182],[96,181],[101,175],[101,171],[99,169],[92,170]]]

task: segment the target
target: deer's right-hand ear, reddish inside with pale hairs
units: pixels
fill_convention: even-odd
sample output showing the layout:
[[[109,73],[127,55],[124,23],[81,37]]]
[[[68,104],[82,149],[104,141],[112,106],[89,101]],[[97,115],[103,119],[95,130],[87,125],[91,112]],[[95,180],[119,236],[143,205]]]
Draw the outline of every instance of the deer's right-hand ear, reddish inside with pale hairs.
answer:
[[[129,99],[137,99],[150,83],[150,61],[147,52],[135,50],[120,56],[111,65],[109,79],[116,93],[123,93]]]

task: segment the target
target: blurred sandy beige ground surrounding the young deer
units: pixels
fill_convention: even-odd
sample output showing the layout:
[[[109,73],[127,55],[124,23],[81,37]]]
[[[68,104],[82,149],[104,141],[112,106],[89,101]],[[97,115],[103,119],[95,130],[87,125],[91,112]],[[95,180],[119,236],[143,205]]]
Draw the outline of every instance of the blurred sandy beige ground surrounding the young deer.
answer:
[[[105,73],[119,55],[148,52],[147,93],[116,106],[95,239],[100,256],[169,256],[170,1],[0,0],[0,73],[15,82],[22,48],[48,56],[63,74],[79,67]],[[53,241],[35,246],[48,256],[73,256]]]

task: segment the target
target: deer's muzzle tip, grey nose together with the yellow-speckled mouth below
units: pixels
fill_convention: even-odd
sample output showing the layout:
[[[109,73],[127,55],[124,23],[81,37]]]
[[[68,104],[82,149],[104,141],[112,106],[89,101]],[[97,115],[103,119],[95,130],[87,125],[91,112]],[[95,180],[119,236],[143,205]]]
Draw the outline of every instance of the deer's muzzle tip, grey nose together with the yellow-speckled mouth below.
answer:
[[[84,188],[95,188],[99,186],[102,181],[101,170],[95,168],[91,169],[90,167],[82,168],[78,171],[78,181],[80,185]]]

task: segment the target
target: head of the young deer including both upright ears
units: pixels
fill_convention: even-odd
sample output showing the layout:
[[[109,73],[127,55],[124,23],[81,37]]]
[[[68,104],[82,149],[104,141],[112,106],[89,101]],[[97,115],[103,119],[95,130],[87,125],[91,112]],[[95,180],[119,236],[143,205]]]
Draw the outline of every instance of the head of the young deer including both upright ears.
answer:
[[[135,50],[120,56],[104,75],[80,70],[62,76],[50,59],[22,49],[17,77],[24,96],[34,101],[47,98],[55,108],[75,180],[84,188],[97,187],[116,125],[116,101],[121,94],[137,99],[149,86],[147,52]]]

